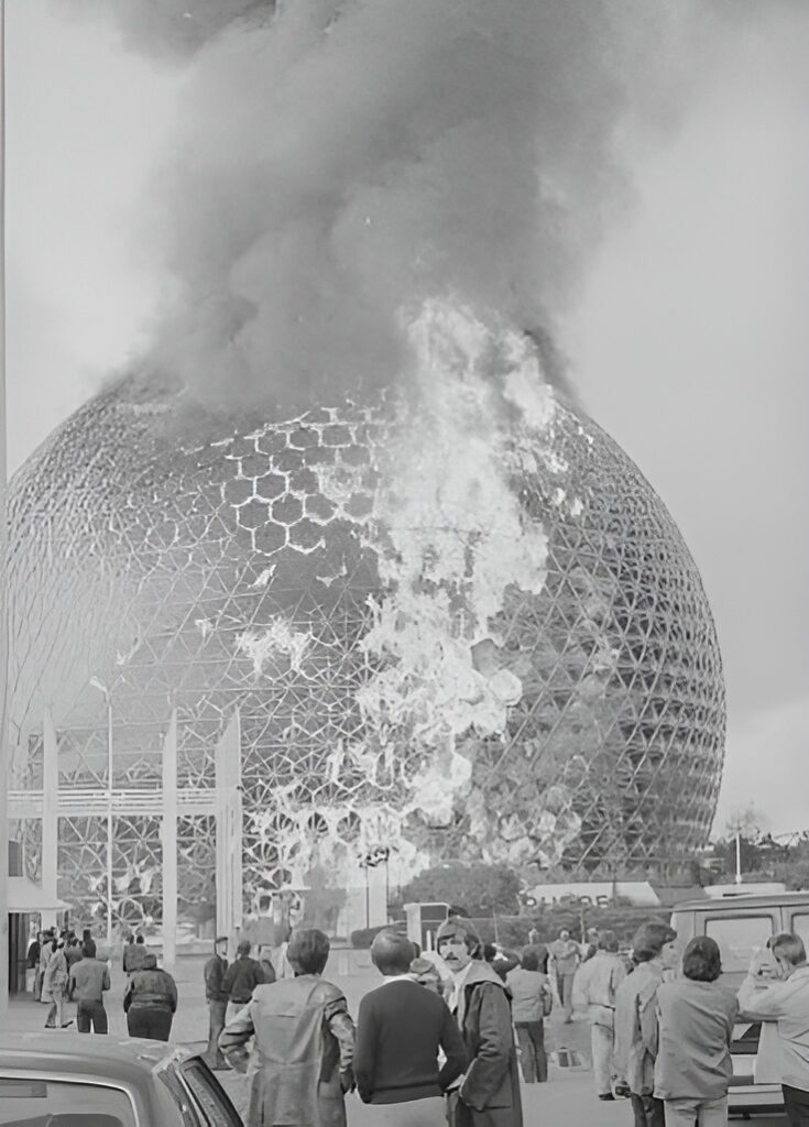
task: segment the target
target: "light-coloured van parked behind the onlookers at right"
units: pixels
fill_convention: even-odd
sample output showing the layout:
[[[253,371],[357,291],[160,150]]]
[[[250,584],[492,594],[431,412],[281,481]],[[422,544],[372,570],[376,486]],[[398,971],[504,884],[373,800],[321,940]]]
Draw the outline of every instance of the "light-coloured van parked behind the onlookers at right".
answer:
[[[737,991],[755,951],[766,947],[771,935],[792,931],[809,948],[809,891],[774,893],[767,896],[724,895],[677,904],[672,913],[681,951],[694,935],[710,935],[722,956],[721,982]],[[728,1104],[731,1112],[782,1111],[781,1085],[756,1077],[761,1022],[744,1020],[734,1029],[730,1047],[734,1077]]]

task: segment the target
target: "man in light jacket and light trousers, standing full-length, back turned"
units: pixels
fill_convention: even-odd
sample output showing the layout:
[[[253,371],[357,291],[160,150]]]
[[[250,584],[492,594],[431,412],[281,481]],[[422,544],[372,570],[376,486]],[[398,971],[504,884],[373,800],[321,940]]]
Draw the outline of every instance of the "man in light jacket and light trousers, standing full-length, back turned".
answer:
[[[615,1079],[615,999],[619,986],[626,977],[617,948],[614,931],[598,932],[596,952],[579,967],[574,983],[574,1005],[586,1008],[590,1023],[593,1075],[599,1100],[615,1099],[612,1091]]]

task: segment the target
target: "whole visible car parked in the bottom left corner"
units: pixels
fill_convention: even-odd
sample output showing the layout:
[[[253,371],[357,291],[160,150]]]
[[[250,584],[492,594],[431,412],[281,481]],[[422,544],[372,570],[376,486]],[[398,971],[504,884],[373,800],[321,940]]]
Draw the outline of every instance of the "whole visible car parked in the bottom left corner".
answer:
[[[243,1127],[202,1057],[179,1045],[0,1033],[0,1127]]]

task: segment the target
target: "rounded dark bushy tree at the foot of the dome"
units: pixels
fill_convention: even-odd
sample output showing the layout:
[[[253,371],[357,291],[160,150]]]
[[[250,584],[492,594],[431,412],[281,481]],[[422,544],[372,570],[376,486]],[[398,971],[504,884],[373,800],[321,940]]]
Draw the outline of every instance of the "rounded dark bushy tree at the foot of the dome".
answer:
[[[516,914],[519,877],[505,864],[452,862],[425,869],[401,890],[403,903],[444,903],[470,916]]]

